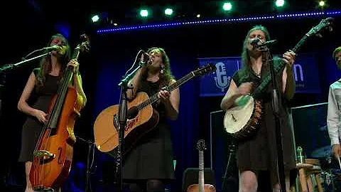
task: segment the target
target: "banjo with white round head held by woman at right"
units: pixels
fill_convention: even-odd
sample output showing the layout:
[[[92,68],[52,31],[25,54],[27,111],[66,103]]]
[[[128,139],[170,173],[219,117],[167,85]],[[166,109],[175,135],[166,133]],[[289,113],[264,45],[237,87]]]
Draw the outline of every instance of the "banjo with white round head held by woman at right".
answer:
[[[292,51],[297,53],[311,36],[321,37],[320,31],[323,28],[328,27],[329,31],[332,31],[331,26],[333,20],[334,18],[329,17],[320,21],[317,26],[311,28],[310,31],[301,38]],[[275,73],[278,74],[285,66],[286,63],[281,60],[278,65],[274,66]],[[268,85],[270,81],[271,75],[267,75],[261,84],[256,87],[254,92],[238,97],[234,102],[234,107],[231,107],[225,112],[223,123],[227,133],[232,134],[232,136],[237,139],[245,139],[258,130],[258,125],[261,120],[262,102],[261,100],[254,99],[254,95],[264,92],[266,85]]]

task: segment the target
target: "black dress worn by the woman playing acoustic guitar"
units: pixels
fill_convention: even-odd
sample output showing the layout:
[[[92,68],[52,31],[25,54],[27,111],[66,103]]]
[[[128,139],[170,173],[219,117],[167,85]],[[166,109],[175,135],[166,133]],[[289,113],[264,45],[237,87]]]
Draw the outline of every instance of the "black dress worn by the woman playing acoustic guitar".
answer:
[[[159,83],[143,80],[137,92],[146,92],[150,97],[158,92]],[[123,170],[126,182],[154,178],[167,183],[175,178],[171,127],[166,122],[166,109],[162,102],[155,102],[153,108],[160,114],[159,122],[126,154]]]

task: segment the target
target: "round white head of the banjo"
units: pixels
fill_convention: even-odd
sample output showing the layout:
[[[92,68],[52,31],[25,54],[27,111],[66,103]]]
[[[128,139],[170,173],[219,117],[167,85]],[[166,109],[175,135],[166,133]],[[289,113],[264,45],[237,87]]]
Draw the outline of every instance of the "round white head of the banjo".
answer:
[[[234,107],[225,112],[224,128],[229,134],[238,134],[248,124],[254,113],[254,98],[251,95],[242,95],[234,102]]]

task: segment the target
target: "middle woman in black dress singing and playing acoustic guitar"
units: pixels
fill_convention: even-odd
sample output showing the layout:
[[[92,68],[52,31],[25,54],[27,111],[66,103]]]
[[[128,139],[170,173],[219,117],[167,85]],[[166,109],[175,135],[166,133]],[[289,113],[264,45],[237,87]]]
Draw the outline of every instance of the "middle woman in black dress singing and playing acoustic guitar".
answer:
[[[153,109],[160,117],[156,127],[144,134],[124,159],[123,178],[131,183],[131,191],[165,191],[165,184],[174,178],[171,127],[166,119],[177,119],[180,93],[178,88],[172,92],[161,90],[175,82],[165,50],[151,48],[148,55],[146,66],[129,82],[134,89],[127,91],[127,97],[133,100],[137,92],[148,96],[158,92],[160,100]]]

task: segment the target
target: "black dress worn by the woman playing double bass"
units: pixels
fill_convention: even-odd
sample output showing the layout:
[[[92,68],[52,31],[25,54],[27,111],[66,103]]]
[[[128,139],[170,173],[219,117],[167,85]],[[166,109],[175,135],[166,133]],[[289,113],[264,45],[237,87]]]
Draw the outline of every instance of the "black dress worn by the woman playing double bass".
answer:
[[[33,70],[34,74],[38,75],[39,69]],[[48,112],[53,95],[58,90],[58,76],[46,75],[45,83],[39,89],[34,87],[31,97],[28,102],[32,102],[32,107],[43,112]],[[36,117],[28,116],[23,124],[23,132],[21,133],[21,151],[18,161],[33,161],[33,151],[36,148],[40,132],[43,129],[43,124]]]

